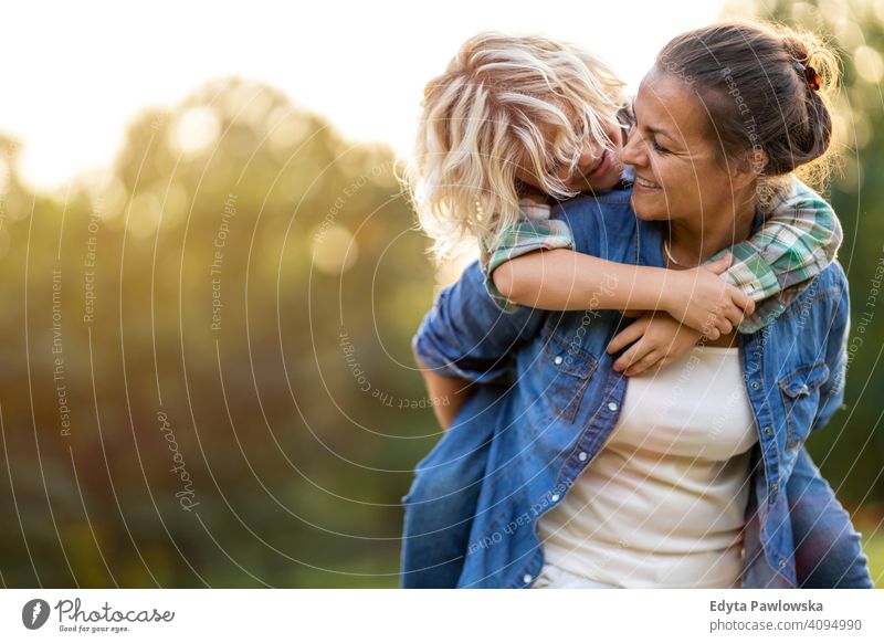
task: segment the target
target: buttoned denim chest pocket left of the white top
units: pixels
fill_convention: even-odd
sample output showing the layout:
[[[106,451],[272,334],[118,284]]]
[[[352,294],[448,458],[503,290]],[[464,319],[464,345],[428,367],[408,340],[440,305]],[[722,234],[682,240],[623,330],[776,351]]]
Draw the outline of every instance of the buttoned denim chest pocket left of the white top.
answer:
[[[541,372],[552,415],[573,422],[598,360],[578,341],[579,335],[546,330]]]

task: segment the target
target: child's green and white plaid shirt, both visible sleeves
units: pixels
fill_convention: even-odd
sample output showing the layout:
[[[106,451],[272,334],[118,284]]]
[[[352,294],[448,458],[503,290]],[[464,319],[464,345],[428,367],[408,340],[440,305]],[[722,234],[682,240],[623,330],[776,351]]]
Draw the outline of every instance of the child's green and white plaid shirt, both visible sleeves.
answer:
[[[491,275],[497,266],[536,250],[573,250],[571,230],[564,221],[550,219],[550,210],[548,204],[523,200],[522,218],[503,243],[481,253],[485,288],[504,312],[512,313],[518,305],[494,286]],[[831,205],[794,177],[772,196],[767,210],[765,225],[729,249],[734,263],[722,275],[756,302],[755,314],[737,328],[740,333],[755,333],[776,319],[832,263],[841,245],[841,224]]]

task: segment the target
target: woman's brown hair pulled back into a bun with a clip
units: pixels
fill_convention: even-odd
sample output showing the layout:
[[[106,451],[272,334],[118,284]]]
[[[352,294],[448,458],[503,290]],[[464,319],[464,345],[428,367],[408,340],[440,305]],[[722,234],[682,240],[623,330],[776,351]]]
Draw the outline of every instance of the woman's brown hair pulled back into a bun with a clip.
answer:
[[[806,180],[824,182],[839,66],[819,36],[780,25],[714,24],[670,41],[656,68],[694,89],[725,159],[760,149],[761,176],[801,168]]]

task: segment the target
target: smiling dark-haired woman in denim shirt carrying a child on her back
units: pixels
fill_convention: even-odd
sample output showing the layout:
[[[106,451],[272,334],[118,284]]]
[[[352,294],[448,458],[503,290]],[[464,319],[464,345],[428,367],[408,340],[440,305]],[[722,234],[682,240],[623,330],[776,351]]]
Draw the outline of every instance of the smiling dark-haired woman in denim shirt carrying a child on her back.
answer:
[[[758,55],[765,62],[762,70],[754,57]],[[818,158],[828,147],[831,125],[827,125],[828,113],[814,94],[815,78],[808,63],[809,52],[802,51],[799,41],[747,25],[698,30],[667,45],[642,84],[635,104],[636,130],[624,150],[624,160],[636,170],[634,193],[577,199],[555,214],[569,223],[577,249],[620,263],[669,263],[677,268],[748,239],[761,223],[756,197],[764,177]],[[758,88],[765,87],[765,78],[771,74],[772,86],[791,91],[787,114],[766,113],[766,105],[777,102]],[[734,87],[753,87],[753,93],[732,105],[728,97]],[[740,118],[741,106],[747,104],[758,124],[751,131]],[[712,191],[709,186],[718,189]],[[638,220],[629,210],[630,196]],[[729,217],[711,220],[709,212],[729,212]],[[486,367],[493,362],[483,362],[481,357],[493,358],[495,349],[519,338],[526,340],[514,355],[518,381],[496,401],[495,435],[471,525],[461,587],[530,587],[538,576],[543,583],[555,586],[567,582],[562,572],[583,582],[618,587],[732,587],[740,581],[746,587],[794,587],[796,563],[800,562],[796,546],[800,551],[804,540],[798,531],[806,526],[799,527],[792,516],[801,506],[823,517],[810,530],[812,541],[806,547],[818,548],[820,541],[833,538],[836,551],[846,557],[844,573],[853,575],[848,582],[871,584],[865,584],[867,571],[857,536],[836,527],[839,520],[843,525],[843,510],[802,449],[810,430],[824,424],[842,396],[848,304],[840,266],[823,271],[814,287],[792,302],[764,334],[743,336],[738,351],[728,352],[728,344],[723,344],[719,348],[724,351],[703,349],[691,356],[701,363],[714,357],[717,361],[709,368],[727,369],[729,397],[749,421],[732,423],[716,433],[726,444],[719,443],[722,447],[714,453],[706,453],[698,440],[703,422],[687,426],[693,431],[690,440],[681,440],[674,424],[645,424],[644,434],[657,440],[654,456],[669,473],[663,483],[645,475],[650,482],[632,488],[623,485],[641,479],[646,472],[638,466],[623,475],[622,464],[612,464],[615,449],[635,447],[635,439],[642,435],[641,422],[629,426],[636,417],[633,409],[641,405],[625,396],[625,380],[614,370],[614,359],[607,350],[621,316],[613,312],[545,315],[525,310],[502,328],[494,323],[493,308],[480,305],[476,286],[481,283],[467,274],[440,297],[415,341],[419,357],[434,368],[455,362],[464,373],[474,363],[481,367],[477,375],[488,377]],[[467,302],[470,306],[462,308]],[[463,316],[457,319],[456,334],[451,327],[454,315]],[[655,318],[643,324],[646,333],[675,323]],[[628,341],[631,333],[634,335],[628,329],[618,339]],[[720,341],[734,342],[734,337]],[[823,347],[820,355],[819,346]],[[665,398],[676,390],[667,378],[659,379],[648,384],[649,394]],[[707,422],[715,420],[720,394],[720,390],[706,390],[692,396],[695,407],[690,412]],[[488,422],[487,414],[470,417],[482,409],[471,405],[474,399],[461,410],[461,426],[455,430],[470,422]],[[687,449],[687,453],[677,453],[678,449]],[[443,451],[434,450],[422,463],[421,473],[432,471],[434,457]],[[622,453],[620,456],[627,464],[632,462]],[[685,466],[676,462],[678,457],[693,457],[694,462],[705,457],[706,462],[703,467]],[[680,482],[680,472],[690,473],[694,488],[712,489],[717,484],[717,493],[706,494],[709,506],[694,510],[690,485],[680,489],[684,497],[666,500],[662,486]],[[582,515],[589,505],[586,498],[593,497],[593,506],[598,506],[598,498],[606,497],[598,489],[617,484],[621,485],[618,494],[608,499],[632,502],[631,510],[619,518],[622,523]],[[639,542],[627,544],[622,548],[625,556],[618,557],[621,552],[612,546],[618,529],[640,534],[649,529],[635,521],[643,514],[633,502],[640,489],[673,515],[688,516],[695,524],[663,525],[666,534],[651,529],[653,541],[661,541],[661,536],[677,540],[669,544],[674,549],[662,555],[649,550],[648,542]],[[413,502],[414,494],[410,496],[407,500]],[[825,504],[808,506],[809,500]],[[716,523],[716,516],[722,520]],[[544,567],[538,525],[556,565],[547,560]],[[745,556],[739,556],[739,548],[745,548]],[[677,561],[667,565],[665,558]],[[600,560],[611,562],[599,566]],[[715,575],[701,576],[697,570],[714,560],[720,560]],[[829,578],[825,582],[835,587],[842,581],[844,578]]]

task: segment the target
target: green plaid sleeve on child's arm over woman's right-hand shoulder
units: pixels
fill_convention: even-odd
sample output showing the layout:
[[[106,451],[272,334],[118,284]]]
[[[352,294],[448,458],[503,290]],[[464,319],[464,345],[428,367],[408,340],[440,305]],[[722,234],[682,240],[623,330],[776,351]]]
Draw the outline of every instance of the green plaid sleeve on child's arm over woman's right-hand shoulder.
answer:
[[[755,333],[776,319],[832,263],[843,236],[831,205],[797,177],[772,198],[765,225],[730,249],[734,265],[722,275],[758,303],[738,326],[740,333]]]

